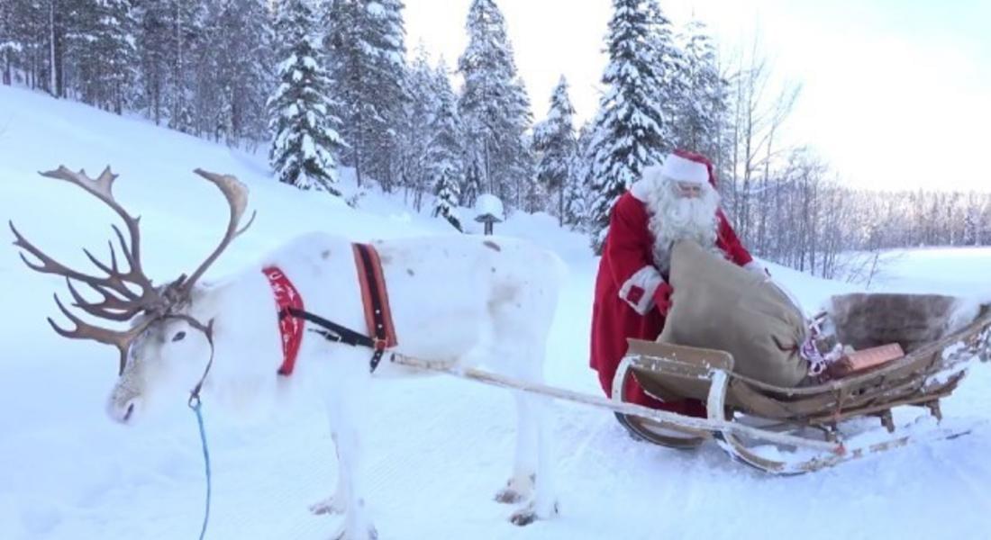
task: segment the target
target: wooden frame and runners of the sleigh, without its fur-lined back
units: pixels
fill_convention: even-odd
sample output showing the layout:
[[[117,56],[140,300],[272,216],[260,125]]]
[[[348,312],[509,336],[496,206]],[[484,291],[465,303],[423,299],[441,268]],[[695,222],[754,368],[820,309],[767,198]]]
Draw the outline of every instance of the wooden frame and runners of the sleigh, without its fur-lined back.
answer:
[[[629,340],[629,350],[613,379],[613,398],[622,401],[622,387],[634,377],[649,394],[663,400],[683,398],[706,402],[706,428],[698,429],[688,417],[654,425],[681,431],[698,446],[715,438],[731,457],[762,471],[794,475],[808,473],[845,461],[904,446],[923,438],[952,438],[969,428],[944,423],[924,433],[894,435],[892,408],[919,405],[941,420],[939,399],[949,395],[966,375],[975,358],[991,356],[991,310],[982,313],[962,330],[910,353],[874,371],[818,386],[786,388],[745,378],[732,371],[732,357],[722,351]],[[739,429],[736,413],[763,422],[764,427]],[[858,445],[847,441],[842,423],[876,417],[892,434],[884,441]],[[650,422],[656,420],[639,415]],[[702,419],[696,419],[702,420]],[[908,429],[908,431],[913,431]],[[811,434],[810,434],[811,433]],[[665,444],[663,438],[645,437]],[[767,444],[792,449],[791,459],[775,459],[755,449]],[[780,455],[781,452],[772,452]]]

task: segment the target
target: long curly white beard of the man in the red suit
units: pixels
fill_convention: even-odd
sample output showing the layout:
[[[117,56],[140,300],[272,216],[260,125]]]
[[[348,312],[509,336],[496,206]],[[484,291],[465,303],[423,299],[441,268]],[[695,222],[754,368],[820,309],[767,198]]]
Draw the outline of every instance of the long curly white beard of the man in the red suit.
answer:
[[[699,198],[681,198],[675,194],[674,182],[660,181],[647,194],[648,227],[654,235],[654,264],[661,273],[671,270],[671,247],[675,242],[691,240],[720,258],[725,255],[716,247],[719,194],[705,184]]]

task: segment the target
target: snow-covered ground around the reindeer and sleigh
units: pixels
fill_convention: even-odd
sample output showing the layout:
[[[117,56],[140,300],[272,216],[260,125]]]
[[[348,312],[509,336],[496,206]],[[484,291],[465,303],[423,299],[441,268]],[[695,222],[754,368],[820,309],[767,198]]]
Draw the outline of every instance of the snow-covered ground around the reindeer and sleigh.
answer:
[[[187,270],[219,237],[219,195],[191,169],[248,183],[258,219],[212,269],[222,275],[293,235],[322,229],[355,240],[431,234],[447,224],[416,214],[401,194],[371,190],[360,210],[300,193],[265,163],[148,123],[0,87],[0,217],[69,264],[99,253],[113,216],[77,188],[37,170],[64,163],[92,174],[111,163],[118,198],[143,216],[146,270]],[[356,188],[348,186],[353,195]],[[587,368],[596,261],[584,237],[549,216],[517,214],[496,232],[530,238],[571,267],[552,335],[551,383],[599,393]],[[10,237],[8,237],[10,238]],[[850,285],[772,267],[813,309]],[[944,291],[991,299],[991,249],[906,252],[872,289]],[[184,403],[124,428],[103,412],[116,353],[58,338],[55,277],[0,249],[0,538],[195,538],[203,512],[196,422]],[[64,293],[62,293],[64,295]],[[401,337],[400,337],[401,339]],[[381,538],[988,538],[991,531],[991,367],[978,366],[943,407],[972,421],[952,441],[889,452],[796,478],[732,463],[715,445],[695,453],[629,439],[610,413],[553,406],[562,515],[517,528],[492,500],[512,459],[514,410],[504,390],[451,378],[386,380],[366,448]],[[335,479],[333,447],[311,396],[237,420],[211,409],[208,538],[324,539],[339,517],[310,515]],[[431,411],[424,414],[424,410]]]

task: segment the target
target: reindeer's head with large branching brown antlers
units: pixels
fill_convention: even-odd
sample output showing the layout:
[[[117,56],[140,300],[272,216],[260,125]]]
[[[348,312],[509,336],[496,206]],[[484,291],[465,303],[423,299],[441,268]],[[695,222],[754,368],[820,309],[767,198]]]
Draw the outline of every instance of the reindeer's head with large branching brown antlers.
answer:
[[[120,353],[120,378],[110,394],[108,412],[121,422],[132,419],[136,409],[155,389],[169,382],[185,382],[191,386],[197,378],[201,383],[202,378],[206,377],[206,370],[212,361],[213,321],[204,322],[195,317],[194,287],[203,272],[255,218],[253,214],[248,223],[238,229],[248,203],[248,189],[237,178],[198,168],[195,172],[216,185],[227,199],[230,207],[227,231],[217,248],[188,277],[182,274],[162,286],[154,285],[141,267],[139,218],[128,214],[114,199],[112,188],[117,175],[110,171],[110,167],[104,169],[96,179],[89,178],[82,170],[72,172],[64,166],[41,174],[85,189],[120,216],[127,228],[128,240],[116,225],[113,230],[127,270],[122,270],[118,264],[113,242],[108,242],[109,264],[96,259],[88,250],[83,250],[102,275],[71,270],[25,240],[14,224],[10,223],[16,239],[14,245],[40,262],[34,263],[22,253],[24,263],[32,270],[65,277],[73,306],[99,319],[130,323],[127,330],[94,326],[67,309],[57,294],[55,304],[75,328],[66,330],[49,318],[49,324],[63,337],[94,340],[117,348]],[[87,299],[73,283],[86,285],[90,289],[89,295],[95,294],[98,298]],[[196,384],[195,391],[198,391],[198,386],[199,383]]]

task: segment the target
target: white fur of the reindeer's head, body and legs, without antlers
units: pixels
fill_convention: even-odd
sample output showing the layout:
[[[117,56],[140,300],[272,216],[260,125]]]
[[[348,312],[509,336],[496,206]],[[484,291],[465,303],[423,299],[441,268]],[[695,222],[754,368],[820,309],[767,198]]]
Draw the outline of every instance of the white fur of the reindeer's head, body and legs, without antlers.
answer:
[[[505,375],[542,378],[558,284],[564,275],[556,256],[497,237],[430,237],[374,245],[382,259],[397,352],[457,366],[485,363]],[[351,243],[326,234],[299,237],[258,266],[215,285],[197,287],[187,312],[200,321],[214,321],[214,362],[204,400],[271,396],[285,385],[275,374],[282,362],[275,298],[262,272],[270,265],[292,281],[306,310],[366,331]],[[178,331],[186,337],[172,342]],[[125,373],[110,396],[111,416],[125,421],[132,404],[140,409],[147,401],[184,399],[202,376],[208,357],[205,338],[185,322],[153,326],[132,347]],[[291,376],[318,384],[326,403],[340,466],[338,484],[331,497],[311,509],[345,512],[340,537],[374,536],[363,498],[361,422],[355,421],[373,405],[363,401],[363,387],[371,378],[411,375],[389,364],[386,355],[375,376],[370,376],[370,359],[368,349],[330,343],[304,332]],[[167,397],[166,389],[172,390]],[[539,400],[517,392],[515,465],[498,494],[502,501],[529,499],[513,514],[513,521],[519,523],[556,512],[549,436]]]

